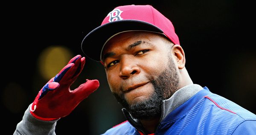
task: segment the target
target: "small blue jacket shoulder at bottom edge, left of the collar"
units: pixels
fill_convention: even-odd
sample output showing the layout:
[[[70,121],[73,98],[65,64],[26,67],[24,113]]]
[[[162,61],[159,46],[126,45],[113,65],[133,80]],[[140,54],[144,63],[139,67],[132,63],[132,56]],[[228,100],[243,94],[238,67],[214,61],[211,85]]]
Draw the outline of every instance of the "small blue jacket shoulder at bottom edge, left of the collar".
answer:
[[[137,135],[137,131],[128,121],[124,121],[108,129],[102,135]]]

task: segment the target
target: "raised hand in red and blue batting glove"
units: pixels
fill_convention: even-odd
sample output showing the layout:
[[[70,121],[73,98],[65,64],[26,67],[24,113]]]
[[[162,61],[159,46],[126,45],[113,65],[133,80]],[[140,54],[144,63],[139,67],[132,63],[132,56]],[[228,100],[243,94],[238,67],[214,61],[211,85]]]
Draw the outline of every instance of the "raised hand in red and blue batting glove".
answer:
[[[73,57],[70,62],[39,91],[30,113],[40,120],[52,121],[69,115],[76,106],[99,87],[98,80],[88,80],[70,90],[84,68],[85,57]]]

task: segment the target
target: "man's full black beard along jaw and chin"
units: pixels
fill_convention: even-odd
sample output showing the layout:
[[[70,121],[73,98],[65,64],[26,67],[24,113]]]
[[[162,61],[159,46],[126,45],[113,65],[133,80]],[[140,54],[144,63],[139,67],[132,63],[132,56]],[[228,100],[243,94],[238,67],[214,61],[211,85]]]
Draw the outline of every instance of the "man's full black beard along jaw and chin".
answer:
[[[154,86],[151,96],[135,104],[128,104],[123,93],[113,93],[116,100],[124,107],[133,118],[146,120],[162,115],[162,102],[170,98],[177,90],[179,78],[174,61],[169,57],[168,67],[155,79],[150,80]]]

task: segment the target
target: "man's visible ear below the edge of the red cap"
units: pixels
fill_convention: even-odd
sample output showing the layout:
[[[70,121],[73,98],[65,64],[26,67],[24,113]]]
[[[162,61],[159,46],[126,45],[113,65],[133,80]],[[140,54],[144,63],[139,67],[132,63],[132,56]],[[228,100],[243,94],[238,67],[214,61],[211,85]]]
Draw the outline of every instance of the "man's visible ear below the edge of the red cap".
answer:
[[[185,67],[186,59],[182,47],[180,45],[173,45],[172,52],[174,54],[174,60],[176,60],[178,68],[183,69]]]

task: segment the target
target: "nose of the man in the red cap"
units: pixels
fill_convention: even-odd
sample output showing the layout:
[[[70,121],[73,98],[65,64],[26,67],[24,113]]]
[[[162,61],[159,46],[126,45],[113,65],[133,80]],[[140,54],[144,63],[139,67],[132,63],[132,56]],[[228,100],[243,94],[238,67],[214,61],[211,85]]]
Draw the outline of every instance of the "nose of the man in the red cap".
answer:
[[[120,73],[119,76],[122,79],[128,79],[129,77],[140,73],[140,68],[137,65],[137,61],[129,57],[123,57],[120,59]]]

